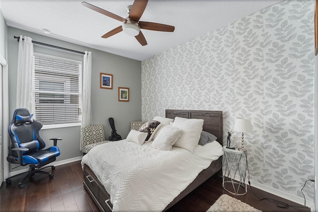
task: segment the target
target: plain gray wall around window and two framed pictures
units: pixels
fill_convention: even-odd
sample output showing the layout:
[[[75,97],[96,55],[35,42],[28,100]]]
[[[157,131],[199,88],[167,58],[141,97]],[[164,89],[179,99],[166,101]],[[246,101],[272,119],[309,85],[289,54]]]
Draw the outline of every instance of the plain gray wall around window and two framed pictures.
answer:
[[[13,27],[8,27],[7,32],[8,68],[9,68],[9,114],[16,108],[16,75],[18,42],[13,36],[29,36],[33,40],[51,45],[56,45],[77,51],[92,52],[92,77],[91,77],[91,106],[93,124],[103,124],[105,138],[111,134],[108,122],[109,117],[115,120],[118,134],[123,138],[129,133],[130,121],[141,120],[141,62],[125,57],[109,54],[96,49],[72,44],[44,35],[31,33]],[[34,52],[49,54],[74,60],[83,60],[83,55],[69,51],[50,48],[34,44]],[[113,74],[113,89],[99,88],[99,74]],[[118,87],[127,87],[130,91],[129,102],[118,102]],[[80,126],[56,129],[42,129],[40,135],[47,141],[47,146],[52,145],[49,138],[61,137],[58,142],[61,155],[57,161],[81,156],[79,151]]]

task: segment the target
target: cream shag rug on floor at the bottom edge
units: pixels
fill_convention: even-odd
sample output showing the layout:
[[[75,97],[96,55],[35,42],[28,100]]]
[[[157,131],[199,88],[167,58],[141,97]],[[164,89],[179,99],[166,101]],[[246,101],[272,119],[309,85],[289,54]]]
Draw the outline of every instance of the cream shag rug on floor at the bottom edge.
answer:
[[[262,212],[229,195],[222,195],[207,212]]]

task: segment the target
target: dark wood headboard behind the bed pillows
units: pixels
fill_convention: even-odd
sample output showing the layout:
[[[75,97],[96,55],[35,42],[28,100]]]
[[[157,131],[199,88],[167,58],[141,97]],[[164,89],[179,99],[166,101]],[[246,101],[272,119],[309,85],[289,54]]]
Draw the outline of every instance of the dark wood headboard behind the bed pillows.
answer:
[[[179,110],[166,109],[166,118],[175,118],[176,116],[182,118],[197,118],[203,119],[203,131],[214,134],[217,141],[223,146],[223,117],[222,111],[216,110]]]

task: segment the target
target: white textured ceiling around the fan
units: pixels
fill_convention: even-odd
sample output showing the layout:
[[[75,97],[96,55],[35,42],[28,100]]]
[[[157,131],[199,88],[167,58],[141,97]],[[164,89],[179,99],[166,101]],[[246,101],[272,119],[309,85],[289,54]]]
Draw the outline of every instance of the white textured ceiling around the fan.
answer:
[[[8,26],[43,35],[46,28],[51,31],[46,36],[142,61],[279,1],[149,0],[140,20],[173,25],[175,30],[142,29],[146,46],[124,32],[101,38],[121,22],[82,6],[81,0],[0,0],[0,9]],[[126,6],[133,0],[86,2],[126,18]]]

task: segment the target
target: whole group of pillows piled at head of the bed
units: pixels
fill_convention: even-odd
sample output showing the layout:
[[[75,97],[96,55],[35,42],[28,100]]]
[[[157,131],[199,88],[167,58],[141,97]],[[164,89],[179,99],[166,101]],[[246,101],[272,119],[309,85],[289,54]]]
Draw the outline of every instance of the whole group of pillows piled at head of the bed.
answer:
[[[131,130],[127,140],[139,145],[153,140],[150,146],[156,149],[170,151],[172,146],[176,146],[193,152],[198,144],[203,146],[217,139],[202,129],[203,119],[175,117],[173,121],[171,118],[156,116],[139,131]]]

